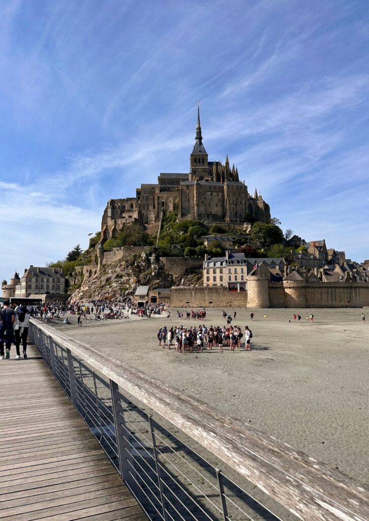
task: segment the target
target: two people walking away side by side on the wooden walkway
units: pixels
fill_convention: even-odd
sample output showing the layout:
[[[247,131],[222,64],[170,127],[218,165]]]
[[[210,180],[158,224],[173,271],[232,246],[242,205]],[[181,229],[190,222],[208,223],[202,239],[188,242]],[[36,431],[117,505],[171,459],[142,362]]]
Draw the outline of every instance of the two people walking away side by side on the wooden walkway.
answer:
[[[21,305],[13,309],[9,301],[4,301],[0,309],[0,359],[10,358],[11,345],[16,346],[16,358],[20,358],[22,345],[23,358],[27,358],[27,338],[31,312]]]

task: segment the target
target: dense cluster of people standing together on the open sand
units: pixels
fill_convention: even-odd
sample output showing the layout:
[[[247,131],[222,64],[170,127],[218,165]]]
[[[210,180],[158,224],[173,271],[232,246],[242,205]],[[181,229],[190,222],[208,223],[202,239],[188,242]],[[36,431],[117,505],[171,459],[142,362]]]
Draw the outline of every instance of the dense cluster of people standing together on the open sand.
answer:
[[[203,352],[206,345],[207,350],[212,351],[213,348],[218,348],[219,353],[223,353],[224,348],[229,348],[230,351],[241,349],[244,344],[246,351],[249,351],[252,331],[248,326],[245,326],[244,333],[240,326],[210,326],[207,328],[205,324],[200,324],[198,327],[184,327],[172,326],[170,329],[167,326],[161,327],[157,333],[159,346],[163,349],[168,345],[170,350],[173,346],[176,351],[184,353]]]

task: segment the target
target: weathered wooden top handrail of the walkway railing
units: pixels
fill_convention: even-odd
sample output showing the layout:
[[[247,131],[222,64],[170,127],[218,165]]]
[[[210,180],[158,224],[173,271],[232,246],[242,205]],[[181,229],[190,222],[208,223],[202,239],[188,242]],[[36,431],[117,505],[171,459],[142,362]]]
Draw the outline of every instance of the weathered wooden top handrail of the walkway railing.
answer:
[[[39,320],[31,322],[301,519],[369,519],[369,490],[362,483]]]

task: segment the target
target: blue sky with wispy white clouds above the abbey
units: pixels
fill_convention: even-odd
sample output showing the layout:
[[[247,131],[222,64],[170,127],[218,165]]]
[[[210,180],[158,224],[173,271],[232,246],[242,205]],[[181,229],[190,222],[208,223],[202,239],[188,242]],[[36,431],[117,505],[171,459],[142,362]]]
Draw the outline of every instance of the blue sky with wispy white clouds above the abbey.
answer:
[[[366,0],[0,0],[1,279],[187,172],[197,100],[283,229],[369,258],[368,51]]]

